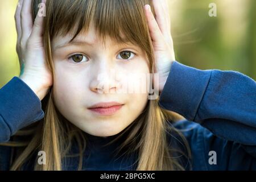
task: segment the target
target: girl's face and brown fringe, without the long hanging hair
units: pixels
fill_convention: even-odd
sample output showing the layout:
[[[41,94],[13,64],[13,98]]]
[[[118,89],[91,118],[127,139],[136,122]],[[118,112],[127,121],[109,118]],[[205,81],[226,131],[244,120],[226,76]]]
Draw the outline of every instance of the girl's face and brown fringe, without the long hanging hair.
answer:
[[[146,78],[152,68],[143,13],[146,3],[85,0],[46,5],[54,102],[68,121],[86,133],[118,134],[146,107],[148,94],[131,92],[146,81],[138,81],[138,76]],[[89,109],[100,102],[118,102],[122,107],[112,115]]]

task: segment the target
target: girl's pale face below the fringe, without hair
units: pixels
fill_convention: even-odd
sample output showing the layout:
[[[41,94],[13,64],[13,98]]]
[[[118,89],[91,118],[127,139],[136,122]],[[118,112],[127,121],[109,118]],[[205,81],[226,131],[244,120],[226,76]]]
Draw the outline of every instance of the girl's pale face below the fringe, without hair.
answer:
[[[86,34],[56,36],[52,40],[54,100],[60,113],[88,134],[108,137],[129,126],[146,107],[145,80],[150,73],[146,53],[131,43],[97,39],[94,26]],[[103,85],[103,86],[102,86]],[[90,109],[102,102],[118,102],[109,109]]]

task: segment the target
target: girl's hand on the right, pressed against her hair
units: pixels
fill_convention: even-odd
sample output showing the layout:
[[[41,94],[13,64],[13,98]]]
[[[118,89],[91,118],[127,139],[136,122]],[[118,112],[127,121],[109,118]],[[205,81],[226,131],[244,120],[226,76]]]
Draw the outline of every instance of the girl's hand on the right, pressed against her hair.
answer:
[[[175,60],[174,44],[171,36],[171,19],[167,0],[152,0],[156,18],[151,7],[145,5],[147,23],[154,46],[155,73],[159,73],[159,91],[163,90],[171,65]]]

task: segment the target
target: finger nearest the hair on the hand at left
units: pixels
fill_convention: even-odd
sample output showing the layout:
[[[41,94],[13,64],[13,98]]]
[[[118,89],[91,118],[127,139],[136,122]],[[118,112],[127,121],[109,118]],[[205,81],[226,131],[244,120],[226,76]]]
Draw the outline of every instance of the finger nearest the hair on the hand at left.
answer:
[[[42,3],[45,3],[45,0],[43,0]],[[43,35],[43,18],[44,16],[41,15],[39,10],[35,18],[34,26],[32,28],[32,32],[30,36],[31,39],[39,38]]]

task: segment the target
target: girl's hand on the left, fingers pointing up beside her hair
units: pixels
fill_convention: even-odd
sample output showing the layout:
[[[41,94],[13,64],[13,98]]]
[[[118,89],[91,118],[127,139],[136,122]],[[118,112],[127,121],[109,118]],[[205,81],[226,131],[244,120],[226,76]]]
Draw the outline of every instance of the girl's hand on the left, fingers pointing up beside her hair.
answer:
[[[40,101],[52,86],[52,73],[46,65],[46,53],[43,46],[43,16],[38,11],[34,25],[31,11],[32,0],[19,0],[15,12],[18,34],[16,51],[19,56],[20,76],[39,97]],[[43,0],[42,3],[45,3]],[[45,7],[45,6],[44,6]]]

